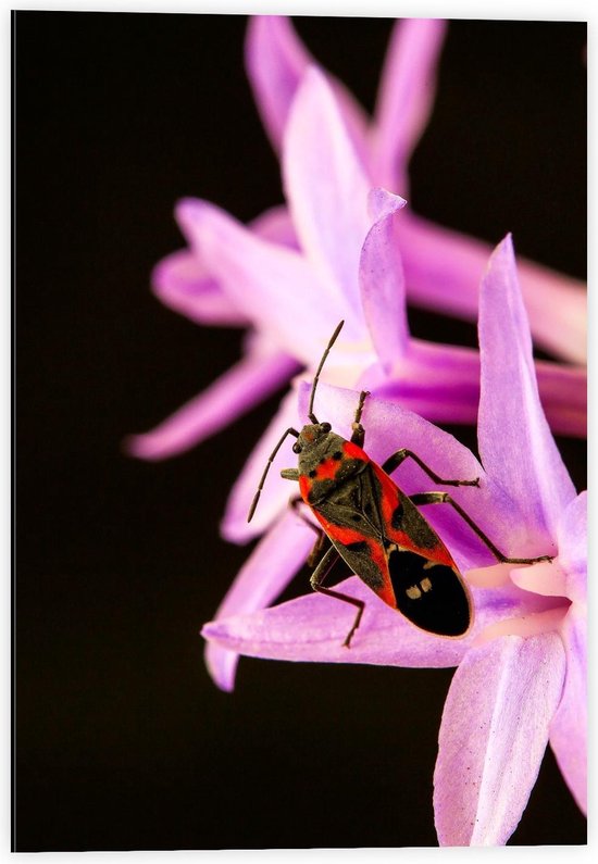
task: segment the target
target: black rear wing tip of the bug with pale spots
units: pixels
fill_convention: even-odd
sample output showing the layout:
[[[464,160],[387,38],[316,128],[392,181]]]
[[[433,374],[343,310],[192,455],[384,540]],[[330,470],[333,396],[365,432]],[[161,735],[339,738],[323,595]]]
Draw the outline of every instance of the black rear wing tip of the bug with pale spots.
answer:
[[[451,567],[435,564],[415,552],[393,551],[389,574],[397,609],[410,622],[438,636],[462,636],[471,623],[465,589]]]

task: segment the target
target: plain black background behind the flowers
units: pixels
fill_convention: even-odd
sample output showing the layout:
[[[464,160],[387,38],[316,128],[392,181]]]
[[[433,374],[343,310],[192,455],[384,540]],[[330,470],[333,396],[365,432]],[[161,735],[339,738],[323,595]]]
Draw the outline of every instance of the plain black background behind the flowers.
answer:
[[[251,218],[282,200],[242,67],[242,16],[20,12],[15,23],[15,848],[436,843],[451,671],[202,663],[248,550],[227,490],[276,399],[192,452],[121,452],[238,356],[161,306],[186,195]],[[366,108],[390,23],[298,18]],[[583,24],[454,22],[413,208],[585,276]],[[475,343],[413,313],[414,333]],[[473,442],[472,435],[464,440]],[[584,488],[584,448],[561,441]],[[295,586],[304,592],[306,580]],[[551,754],[513,843],[580,843]]]

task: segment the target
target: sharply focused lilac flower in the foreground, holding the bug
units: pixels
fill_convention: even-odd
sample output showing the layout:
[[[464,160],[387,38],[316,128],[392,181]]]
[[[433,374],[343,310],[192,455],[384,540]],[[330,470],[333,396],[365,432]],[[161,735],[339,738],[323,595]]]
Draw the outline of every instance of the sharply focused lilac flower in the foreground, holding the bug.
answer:
[[[338,601],[312,593],[261,608],[283,589],[313,541],[304,523],[286,515],[256,548],[225,601],[236,614],[225,617],[223,609],[220,619],[203,628],[212,672],[227,689],[237,653],[458,666],[434,775],[435,821],[444,846],[504,843],[526,806],[548,742],[586,810],[586,497],[576,494],[540,405],[510,238],[497,248],[483,279],[478,326],[482,464],[447,433],[377,397],[363,413],[366,449],[382,462],[407,447],[441,476],[481,477],[479,489],[459,488],[451,496],[507,555],[555,560],[527,567],[491,565],[486,547],[451,508],[428,508],[426,517],[470,583],[471,633],[449,640],[418,630],[351,577],[341,590],[363,599],[366,609],[347,650],[341,643],[352,612]],[[304,384],[303,416],[308,395]],[[315,412],[347,436],[356,400],[353,391],[323,385]],[[397,480],[408,494],[429,484],[407,463]],[[238,614],[244,605],[260,611]]]

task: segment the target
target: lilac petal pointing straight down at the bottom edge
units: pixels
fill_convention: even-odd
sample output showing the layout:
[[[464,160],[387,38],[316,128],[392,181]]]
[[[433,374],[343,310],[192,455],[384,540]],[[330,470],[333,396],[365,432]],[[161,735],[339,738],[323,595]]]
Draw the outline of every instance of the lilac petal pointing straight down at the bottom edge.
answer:
[[[559,636],[508,636],[454,674],[434,773],[441,846],[502,846],[536,781],[564,679]]]

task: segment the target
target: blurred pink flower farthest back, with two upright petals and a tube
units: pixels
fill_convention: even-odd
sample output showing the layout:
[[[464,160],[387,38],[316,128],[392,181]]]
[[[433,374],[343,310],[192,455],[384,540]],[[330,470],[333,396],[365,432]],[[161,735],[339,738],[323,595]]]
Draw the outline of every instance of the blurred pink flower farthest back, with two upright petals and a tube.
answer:
[[[370,123],[351,95],[333,79],[372,185],[406,198],[409,160],[433,108],[446,27],[441,20],[397,22]],[[274,148],[284,151],[294,95],[304,71],[316,61],[288,18],[267,15],[250,22],[246,55],[262,121]],[[476,320],[477,288],[491,251],[487,243],[406,213],[399,246],[411,302]],[[585,362],[585,286],[525,260],[520,262],[520,276],[538,345],[568,360]]]

